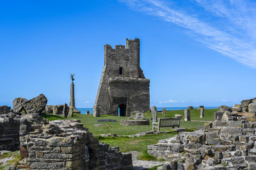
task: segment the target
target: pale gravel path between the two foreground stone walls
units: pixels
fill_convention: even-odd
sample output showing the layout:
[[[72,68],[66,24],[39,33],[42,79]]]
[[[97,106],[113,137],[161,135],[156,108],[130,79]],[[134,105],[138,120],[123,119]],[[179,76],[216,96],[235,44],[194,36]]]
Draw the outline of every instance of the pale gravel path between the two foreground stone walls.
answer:
[[[164,163],[164,162],[160,162],[160,161],[138,160],[137,157],[138,157],[138,155],[140,155],[140,152],[138,152],[138,151],[130,151],[129,153],[132,153],[133,170],[147,169],[150,167],[163,165],[163,163]]]

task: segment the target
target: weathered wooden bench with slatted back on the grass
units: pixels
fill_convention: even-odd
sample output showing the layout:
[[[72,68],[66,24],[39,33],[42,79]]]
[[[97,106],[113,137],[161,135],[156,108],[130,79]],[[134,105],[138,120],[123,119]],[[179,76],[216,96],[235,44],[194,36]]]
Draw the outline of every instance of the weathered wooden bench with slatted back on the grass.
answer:
[[[153,122],[153,130],[157,128],[157,131],[160,131],[160,127],[180,127],[180,118],[158,118],[158,122]]]

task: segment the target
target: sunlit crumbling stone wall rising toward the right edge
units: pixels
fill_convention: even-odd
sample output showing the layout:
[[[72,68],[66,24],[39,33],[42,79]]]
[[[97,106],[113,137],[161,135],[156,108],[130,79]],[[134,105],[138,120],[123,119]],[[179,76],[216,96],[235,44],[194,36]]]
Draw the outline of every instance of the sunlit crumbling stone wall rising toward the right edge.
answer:
[[[168,161],[159,169],[256,169],[256,111],[246,112],[255,99],[249,101],[221,106],[202,130],[159,140],[148,153]]]

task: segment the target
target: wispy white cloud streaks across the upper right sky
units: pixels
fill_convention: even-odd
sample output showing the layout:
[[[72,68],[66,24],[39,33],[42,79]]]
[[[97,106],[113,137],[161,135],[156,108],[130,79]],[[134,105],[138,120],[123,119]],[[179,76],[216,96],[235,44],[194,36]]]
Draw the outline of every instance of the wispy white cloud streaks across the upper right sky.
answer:
[[[134,10],[178,25],[212,50],[256,69],[256,3],[241,0],[194,0],[194,6],[202,6],[205,13],[215,17],[212,22],[200,18],[199,13],[178,9],[172,1],[120,1]]]

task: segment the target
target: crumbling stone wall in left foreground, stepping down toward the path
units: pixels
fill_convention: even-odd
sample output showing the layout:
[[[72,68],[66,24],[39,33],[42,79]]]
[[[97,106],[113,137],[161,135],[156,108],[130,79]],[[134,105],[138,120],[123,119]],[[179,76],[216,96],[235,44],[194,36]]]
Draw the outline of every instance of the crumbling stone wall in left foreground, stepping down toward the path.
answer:
[[[20,120],[17,169],[132,169],[131,154],[100,144],[78,120],[47,122],[39,115]]]

